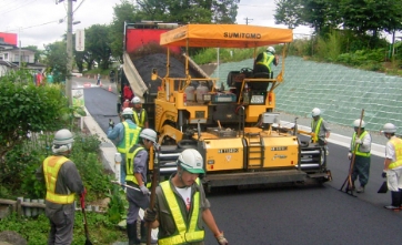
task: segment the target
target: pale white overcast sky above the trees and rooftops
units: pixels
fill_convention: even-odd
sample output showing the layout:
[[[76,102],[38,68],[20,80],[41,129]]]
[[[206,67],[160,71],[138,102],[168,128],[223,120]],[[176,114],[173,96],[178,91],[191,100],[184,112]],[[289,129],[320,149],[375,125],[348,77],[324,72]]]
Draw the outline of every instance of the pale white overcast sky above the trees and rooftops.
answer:
[[[62,40],[67,30],[67,0],[0,0],[0,32],[19,34],[21,47],[44,44]],[[73,2],[74,29],[92,24],[110,24],[113,7],[120,0],[77,0]],[[274,23],[274,0],[241,0],[237,23],[287,28]],[[59,23],[61,22],[61,23]],[[311,34],[306,27],[297,28],[294,33]]]

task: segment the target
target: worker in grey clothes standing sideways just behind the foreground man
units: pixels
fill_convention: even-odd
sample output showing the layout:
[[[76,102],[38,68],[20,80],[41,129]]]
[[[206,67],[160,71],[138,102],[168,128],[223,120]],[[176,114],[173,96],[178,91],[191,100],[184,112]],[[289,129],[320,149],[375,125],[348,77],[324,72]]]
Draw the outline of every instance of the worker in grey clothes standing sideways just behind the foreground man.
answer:
[[[139,143],[133,145],[127,153],[125,182],[135,188],[127,188],[127,200],[129,201],[127,234],[129,236],[129,245],[147,243],[148,227],[139,218],[139,211],[140,208],[145,210],[149,207],[150,203],[150,191],[147,188],[148,151],[155,143],[157,132],[144,129],[140,133]],[[140,229],[137,228],[138,226],[140,226]],[[140,231],[140,234],[137,231]]]

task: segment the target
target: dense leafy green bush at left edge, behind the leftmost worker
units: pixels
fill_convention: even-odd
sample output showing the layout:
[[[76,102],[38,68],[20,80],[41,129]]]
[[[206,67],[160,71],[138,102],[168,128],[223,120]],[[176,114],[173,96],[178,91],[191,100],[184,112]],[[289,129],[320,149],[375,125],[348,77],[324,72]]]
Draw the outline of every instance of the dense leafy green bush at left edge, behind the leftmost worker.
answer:
[[[54,131],[66,124],[67,100],[59,88],[36,86],[27,72],[0,78],[0,157],[21,144],[28,132]],[[21,82],[13,82],[21,81]]]

